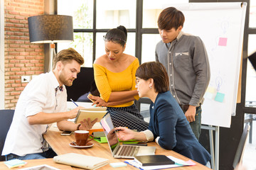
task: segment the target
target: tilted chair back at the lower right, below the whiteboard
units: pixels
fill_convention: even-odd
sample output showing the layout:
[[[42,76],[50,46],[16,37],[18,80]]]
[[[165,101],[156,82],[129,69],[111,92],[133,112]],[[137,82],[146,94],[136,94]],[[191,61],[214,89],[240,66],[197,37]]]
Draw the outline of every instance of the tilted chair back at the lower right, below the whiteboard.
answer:
[[[250,125],[245,124],[245,129],[242,132],[242,136],[240,138],[238,149],[237,149],[237,152],[235,153],[235,159],[233,162],[234,168],[235,168],[235,166],[237,166],[237,164],[239,162],[242,162],[242,156],[243,156],[243,152],[245,150],[245,143],[247,141],[247,136],[248,136],[249,131],[250,131]]]

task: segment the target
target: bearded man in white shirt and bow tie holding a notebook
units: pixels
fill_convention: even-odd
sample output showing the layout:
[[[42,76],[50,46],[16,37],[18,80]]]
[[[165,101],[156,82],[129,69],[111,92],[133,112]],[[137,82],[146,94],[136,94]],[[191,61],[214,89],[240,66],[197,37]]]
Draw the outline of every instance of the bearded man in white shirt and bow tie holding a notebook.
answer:
[[[53,71],[32,79],[18,98],[14,119],[4,143],[2,155],[10,159],[44,159],[56,154],[43,139],[51,125],[57,122],[60,130],[89,130],[97,120],[75,124],[78,106],[67,111],[67,91],[84,63],[73,48],[60,51],[54,58]]]

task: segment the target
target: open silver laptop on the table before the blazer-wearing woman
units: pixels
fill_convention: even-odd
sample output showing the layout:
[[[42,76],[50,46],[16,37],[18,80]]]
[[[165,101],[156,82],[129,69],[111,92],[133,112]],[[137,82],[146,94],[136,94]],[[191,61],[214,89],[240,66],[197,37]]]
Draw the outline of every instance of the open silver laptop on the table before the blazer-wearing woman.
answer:
[[[134,156],[155,154],[156,147],[120,145],[110,113],[107,113],[107,115],[100,120],[100,124],[105,132],[107,143],[110,146],[110,152],[114,158],[134,159]]]

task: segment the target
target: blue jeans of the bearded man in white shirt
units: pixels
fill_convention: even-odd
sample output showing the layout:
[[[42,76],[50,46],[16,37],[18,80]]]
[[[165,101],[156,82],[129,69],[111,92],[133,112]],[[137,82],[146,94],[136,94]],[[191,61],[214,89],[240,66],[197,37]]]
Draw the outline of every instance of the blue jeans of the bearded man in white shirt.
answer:
[[[57,156],[57,154],[53,151],[53,149],[49,148],[48,151],[43,153],[36,153],[36,154],[26,154],[23,157],[20,157],[16,154],[7,154],[6,161],[11,159],[20,159],[20,160],[28,160],[28,159],[46,159],[46,158],[53,158]]]

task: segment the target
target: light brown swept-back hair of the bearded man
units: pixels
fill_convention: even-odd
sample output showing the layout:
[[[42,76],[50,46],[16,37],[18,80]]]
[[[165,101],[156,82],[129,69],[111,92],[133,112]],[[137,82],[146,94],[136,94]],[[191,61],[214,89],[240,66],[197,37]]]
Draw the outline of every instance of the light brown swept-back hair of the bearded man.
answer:
[[[80,65],[82,65],[85,62],[83,57],[76,50],[74,50],[72,47],[70,47],[68,49],[65,49],[65,50],[61,50],[54,57],[53,69],[55,69],[57,62],[61,61],[61,62],[63,62],[63,64],[65,64],[67,62],[71,62],[72,60],[77,61]]]

